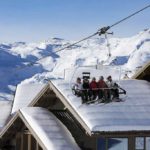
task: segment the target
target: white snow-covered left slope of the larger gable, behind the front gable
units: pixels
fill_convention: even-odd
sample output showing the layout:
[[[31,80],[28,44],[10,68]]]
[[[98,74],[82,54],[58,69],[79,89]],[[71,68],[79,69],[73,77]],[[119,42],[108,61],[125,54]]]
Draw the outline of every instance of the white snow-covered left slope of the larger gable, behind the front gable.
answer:
[[[14,113],[23,107],[27,107],[34,99],[40,97],[40,94],[47,89],[47,84],[19,84],[12,107]]]

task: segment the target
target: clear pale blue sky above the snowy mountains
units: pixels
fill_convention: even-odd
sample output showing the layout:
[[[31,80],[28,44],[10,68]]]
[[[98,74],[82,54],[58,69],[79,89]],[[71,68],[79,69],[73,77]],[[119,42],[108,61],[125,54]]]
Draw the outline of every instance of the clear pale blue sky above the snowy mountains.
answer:
[[[1,0],[0,42],[79,40],[112,25],[150,0]],[[112,28],[115,37],[150,28],[150,8]]]

